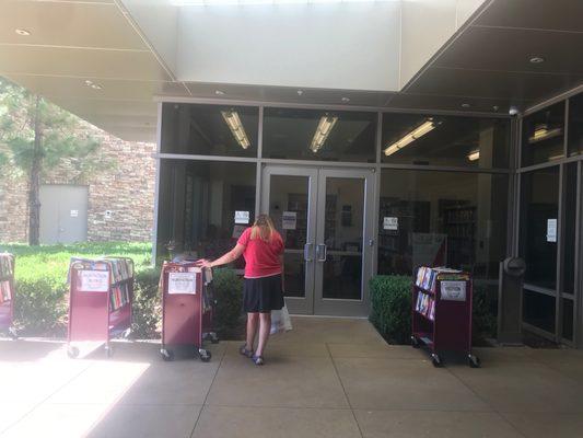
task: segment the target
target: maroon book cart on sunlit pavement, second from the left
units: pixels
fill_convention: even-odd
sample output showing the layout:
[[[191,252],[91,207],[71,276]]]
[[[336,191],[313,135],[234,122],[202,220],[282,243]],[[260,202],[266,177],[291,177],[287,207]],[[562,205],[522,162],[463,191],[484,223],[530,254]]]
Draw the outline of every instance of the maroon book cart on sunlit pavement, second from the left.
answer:
[[[133,261],[71,258],[69,284],[69,357],[79,356],[74,343],[82,342],[103,343],[109,357],[109,341],[128,337],[131,331]]]

